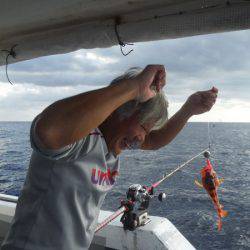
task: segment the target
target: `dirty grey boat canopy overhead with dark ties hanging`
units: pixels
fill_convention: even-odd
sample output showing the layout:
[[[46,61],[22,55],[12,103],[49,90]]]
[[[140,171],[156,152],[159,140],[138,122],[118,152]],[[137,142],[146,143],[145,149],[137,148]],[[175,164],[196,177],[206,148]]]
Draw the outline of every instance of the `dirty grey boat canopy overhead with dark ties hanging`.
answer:
[[[249,0],[0,0],[0,65],[14,45],[8,63],[249,28]]]

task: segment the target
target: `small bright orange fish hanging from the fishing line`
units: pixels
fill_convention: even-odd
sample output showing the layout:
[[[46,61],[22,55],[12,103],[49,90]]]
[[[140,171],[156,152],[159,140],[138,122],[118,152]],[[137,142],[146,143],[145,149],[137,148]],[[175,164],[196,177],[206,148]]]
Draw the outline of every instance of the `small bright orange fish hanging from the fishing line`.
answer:
[[[228,212],[222,209],[222,205],[219,203],[219,198],[217,195],[217,188],[223,182],[223,179],[219,180],[217,178],[216,172],[213,169],[213,166],[209,159],[206,159],[207,165],[201,170],[202,184],[195,180],[195,184],[199,187],[205,188],[210,195],[215,209],[218,214],[218,231],[221,230],[222,227],[222,217],[226,217]]]

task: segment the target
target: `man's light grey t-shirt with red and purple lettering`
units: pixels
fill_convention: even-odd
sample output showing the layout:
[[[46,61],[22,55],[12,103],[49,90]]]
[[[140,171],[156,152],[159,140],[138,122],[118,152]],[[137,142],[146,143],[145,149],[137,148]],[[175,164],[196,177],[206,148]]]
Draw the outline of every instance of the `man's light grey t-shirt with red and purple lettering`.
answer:
[[[33,148],[23,190],[2,250],[88,249],[100,207],[119,171],[99,129],[60,150]]]

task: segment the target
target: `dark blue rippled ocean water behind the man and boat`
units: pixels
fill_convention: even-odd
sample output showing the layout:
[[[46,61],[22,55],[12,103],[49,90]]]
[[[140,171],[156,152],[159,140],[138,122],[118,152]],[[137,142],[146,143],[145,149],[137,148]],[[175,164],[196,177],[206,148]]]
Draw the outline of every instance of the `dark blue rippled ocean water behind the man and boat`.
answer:
[[[129,185],[150,185],[208,146],[207,123],[188,123],[176,139],[157,151],[125,151],[120,177],[106,196],[105,210],[116,210]],[[217,231],[217,214],[205,190],[194,184],[205,160],[199,157],[162,183],[149,214],[167,217],[202,250],[250,249],[250,124],[210,123],[212,164],[225,179],[218,195],[228,216]],[[0,122],[0,192],[19,195],[29,164],[30,122]]]

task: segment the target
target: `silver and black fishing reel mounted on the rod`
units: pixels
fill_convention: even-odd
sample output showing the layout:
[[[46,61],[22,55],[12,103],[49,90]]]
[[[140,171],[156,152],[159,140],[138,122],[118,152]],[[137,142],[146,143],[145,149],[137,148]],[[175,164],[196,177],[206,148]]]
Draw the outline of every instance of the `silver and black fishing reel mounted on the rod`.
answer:
[[[127,200],[121,202],[127,210],[121,217],[121,222],[125,230],[133,231],[139,226],[144,226],[150,222],[148,207],[153,195],[153,187],[147,188],[140,184],[133,184],[127,191]],[[166,198],[165,193],[160,193],[158,199],[162,201]]]

